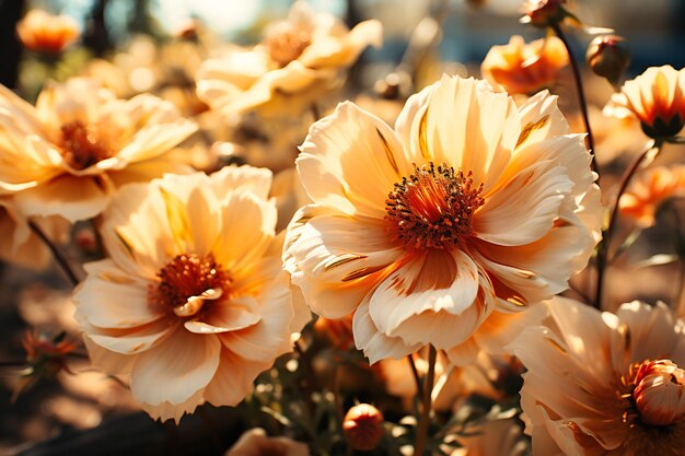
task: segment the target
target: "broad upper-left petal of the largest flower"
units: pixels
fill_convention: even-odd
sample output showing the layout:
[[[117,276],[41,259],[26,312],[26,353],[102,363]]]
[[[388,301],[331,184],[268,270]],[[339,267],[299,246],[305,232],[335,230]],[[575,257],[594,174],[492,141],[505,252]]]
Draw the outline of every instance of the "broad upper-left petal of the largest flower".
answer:
[[[310,198],[348,214],[385,217],[387,195],[413,169],[395,133],[349,102],[314,124],[300,151],[295,164]]]

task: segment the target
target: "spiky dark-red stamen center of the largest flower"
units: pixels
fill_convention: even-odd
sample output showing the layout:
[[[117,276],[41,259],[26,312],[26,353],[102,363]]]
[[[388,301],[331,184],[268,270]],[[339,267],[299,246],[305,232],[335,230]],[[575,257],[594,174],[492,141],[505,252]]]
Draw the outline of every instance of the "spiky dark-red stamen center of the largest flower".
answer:
[[[474,187],[473,173],[455,172],[433,162],[396,183],[385,200],[385,219],[395,238],[407,249],[445,248],[472,233],[474,212],[485,203],[483,184]]]

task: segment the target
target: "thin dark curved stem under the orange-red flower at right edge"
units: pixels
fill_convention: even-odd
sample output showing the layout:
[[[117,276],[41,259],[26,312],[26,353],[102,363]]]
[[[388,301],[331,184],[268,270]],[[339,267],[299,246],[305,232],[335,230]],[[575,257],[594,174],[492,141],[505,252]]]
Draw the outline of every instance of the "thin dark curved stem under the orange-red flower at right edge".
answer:
[[[604,279],[606,276],[606,266],[607,266],[607,256],[608,249],[612,242],[612,236],[614,235],[614,229],[616,227],[616,219],[618,217],[618,203],[620,202],[620,197],[628,188],[628,184],[630,179],[638,171],[640,165],[645,162],[646,159],[653,159],[657,153],[659,153],[659,149],[661,148],[661,142],[652,141],[650,145],[635,157],[628,169],[620,177],[620,183],[618,184],[618,192],[616,194],[616,199],[612,204],[611,212],[608,215],[608,222],[602,229],[602,242],[597,248],[597,287],[594,294],[594,304],[596,308],[602,308],[602,294],[604,292]]]

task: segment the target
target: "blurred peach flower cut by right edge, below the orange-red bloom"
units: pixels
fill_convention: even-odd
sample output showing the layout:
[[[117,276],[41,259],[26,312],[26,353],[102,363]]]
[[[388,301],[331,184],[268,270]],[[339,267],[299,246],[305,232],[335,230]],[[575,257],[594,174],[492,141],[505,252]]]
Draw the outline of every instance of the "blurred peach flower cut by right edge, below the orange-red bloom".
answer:
[[[685,197],[685,165],[649,168],[638,174],[620,197],[620,213],[650,226],[659,206],[675,197]]]

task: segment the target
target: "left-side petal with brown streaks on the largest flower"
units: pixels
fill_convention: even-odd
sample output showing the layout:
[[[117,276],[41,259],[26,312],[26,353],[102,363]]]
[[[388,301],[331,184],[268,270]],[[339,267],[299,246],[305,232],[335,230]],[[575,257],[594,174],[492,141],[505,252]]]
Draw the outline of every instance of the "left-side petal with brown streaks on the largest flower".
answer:
[[[297,264],[293,283],[307,305],[326,318],[351,313],[403,252],[373,219],[321,214],[301,226],[288,248]]]

